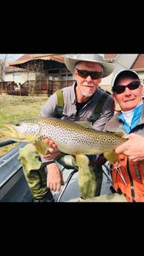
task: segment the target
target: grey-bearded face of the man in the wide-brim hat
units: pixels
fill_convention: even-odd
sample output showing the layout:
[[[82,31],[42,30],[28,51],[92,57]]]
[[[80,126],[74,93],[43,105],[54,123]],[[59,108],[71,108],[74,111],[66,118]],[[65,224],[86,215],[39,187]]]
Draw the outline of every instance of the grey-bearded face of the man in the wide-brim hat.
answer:
[[[95,73],[86,73],[86,71]],[[77,93],[86,97],[92,96],[101,83],[102,72],[103,67],[98,63],[89,61],[78,62],[74,73],[78,84]]]

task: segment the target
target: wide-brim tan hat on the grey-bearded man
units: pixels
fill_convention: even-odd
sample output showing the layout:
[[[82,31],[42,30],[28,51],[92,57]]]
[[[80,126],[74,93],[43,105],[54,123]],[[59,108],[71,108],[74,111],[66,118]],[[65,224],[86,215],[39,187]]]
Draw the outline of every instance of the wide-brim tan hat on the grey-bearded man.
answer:
[[[108,63],[108,62],[104,61],[104,59],[101,55],[93,55],[93,54],[65,55],[66,67],[72,73],[74,73],[74,68],[76,66],[76,63],[78,63],[79,61],[90,61],[90,62],[95,62],[95,63],[101,64],[101,66],[103,67],[102,78],[109,76],[115,68],[112,63]]]

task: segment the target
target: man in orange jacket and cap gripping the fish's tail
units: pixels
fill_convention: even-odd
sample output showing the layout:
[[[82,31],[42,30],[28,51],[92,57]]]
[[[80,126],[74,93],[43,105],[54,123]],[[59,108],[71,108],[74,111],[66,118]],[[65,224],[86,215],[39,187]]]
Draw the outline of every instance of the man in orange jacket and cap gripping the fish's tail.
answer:
[[[112,166],[112,182],[118,193],[101,195],[93,201],[144,202],[144,161],[141,161],[144,160],[143,85],[135,71],[121,70],[112,80],[112,92],[120,110],[107,122],[104,130],[122,131],[130,141],[115,150],[118,160]]]

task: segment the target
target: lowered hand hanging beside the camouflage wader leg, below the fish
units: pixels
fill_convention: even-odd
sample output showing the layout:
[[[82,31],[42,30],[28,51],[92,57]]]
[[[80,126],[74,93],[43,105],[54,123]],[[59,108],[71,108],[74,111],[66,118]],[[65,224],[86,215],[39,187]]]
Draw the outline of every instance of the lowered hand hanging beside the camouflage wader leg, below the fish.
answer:
[[[50,190],[60,191],[60,187],[64,182],[58,166],[55,163],[52,163],[47,166],[47,169],[47,187]]]

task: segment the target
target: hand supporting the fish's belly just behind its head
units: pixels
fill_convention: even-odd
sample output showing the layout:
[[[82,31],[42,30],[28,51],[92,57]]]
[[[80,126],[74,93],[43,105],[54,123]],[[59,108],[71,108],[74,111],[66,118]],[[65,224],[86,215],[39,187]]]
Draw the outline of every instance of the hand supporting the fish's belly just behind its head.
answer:
[[[44,143],[49,144],[50,148],[48,154],[43,155],[43,158],[46,160],[55,160],[61,154],[60,150],[55,145],[54,141],[49,140],[48,138],[44,140]]]

